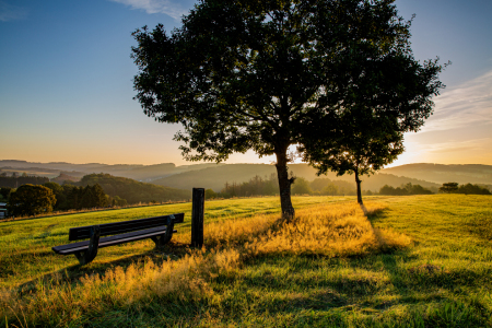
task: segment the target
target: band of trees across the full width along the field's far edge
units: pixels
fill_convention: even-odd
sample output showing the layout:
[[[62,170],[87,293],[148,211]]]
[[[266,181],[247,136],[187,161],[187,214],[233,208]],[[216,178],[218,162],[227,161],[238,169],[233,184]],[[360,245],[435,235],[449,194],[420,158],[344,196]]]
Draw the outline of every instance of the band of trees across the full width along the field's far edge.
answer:
[[[119,196],[110,196],[99,185],[101,181],[106,189],[108,187],[112,190],[124,190],[121,186],[115,186],[109,184],[110,181],[119,181],[125,185],[125,181],[129,181],[130,189],[134,189],[133,186],[137,181],[114,177],[109,174],[92,174],[82,179],[82,185],[73,186],[71,184],[59,185],[54,181],[45,183],[43,185],[26,184],[19,188],[1,187],[0,188],[0,201],[8,202],[8,209],[11,215],[35,215],[40,213],[49,213],[51,211],[67,211],[67,210],[82,210],[90,208],[104,208],[108,206],[126,206],[127,200]],[[141,183],[137,183],[141,184]],[[150,185],[150,184],[143,184]],[[155,186],[157,189],[163,187]],[[164,188],[165,189],[165,188]],[[172,189],[172,188],[168,188]],[[175,189],[179,190],[179,189]],[[133,190],[134,191],[134,190]],[[180,190],[186,191],[186,190]],[[254,197],[254,196],[274,196],[279,192],[279,186],[274,174],[270,177],[255,176],[248,181],[242,184],[229,184],[225,183],[224,188],[220,192],[215,192],[212,189],[206,190],[206,199],[214,198],[233,198],[233,197]],[[438,192],[443,194],[464,194],[464,195],[492,195],[491,191],[483,186],[457,183],[444,184]],[[186,194],[186,195],[185,195]],[[354,186],[344,180],[330,180],[329,178],[316,178],[312,181],[303,177],[296,178],[292,188],[293,195],[309,195],[309,196],[356,196],[356,189]],[[410,195],[432,195],[435,194],[430,189],[426,189],[420,185],[412,185],[411,183],[402,184],[400,187],[391,187],[388,185],[383,186],[379,192],[373,192],[371,190],[363,190],[363,195],[388,195],[388,196],[410,196]],[[125,195],[125,194],[124,194]],[[155,197],[156,195],[148,195],[147,197]],[[188,192],[184,192],[184,197],[188,196]],[[188,199],[188,198],[185,198]],[[171,200],[171,199],[169,199]],[[184,200],[184,199],[178,199]],[[164,200],[161,200],[164,201]],[[148,202],[157,202],[151,200]]]

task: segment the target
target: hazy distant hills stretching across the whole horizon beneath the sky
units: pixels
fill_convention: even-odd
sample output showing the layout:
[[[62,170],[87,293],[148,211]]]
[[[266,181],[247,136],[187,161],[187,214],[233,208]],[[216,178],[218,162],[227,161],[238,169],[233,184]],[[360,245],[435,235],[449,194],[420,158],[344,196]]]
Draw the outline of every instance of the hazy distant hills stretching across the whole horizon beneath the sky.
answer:
[[[296,176],[313,180],[316,171],[307,164],[291,164],[290,171]],[[26,161],[2,160],[1,173],[11,175],[12,172],[27,175],[47,176],[55,178],[61,173],[71,177],[81,178],[87,174],[106,173],[139,181],[152,183],[161,186],[190,189],[203,186],[220,191],[224,184],[244,183],[255,175],[261,177],[277,174],[276,167],[268,164],[191,164],[176,166],[174,163],[155,165],[141,164],[71,164],[66,162],[33,163]],[[328,174],[332,180],[347,180],[353,184],[353,176],[337,177]],[[444,183],[492,185],[492,165],[464,164],[408,164],[385,168],[371,177],[363,177],[362,187],[365,190],[378,191],[385,184],[399,187],[401,184],[419,184],[426,188],[436,188]]]

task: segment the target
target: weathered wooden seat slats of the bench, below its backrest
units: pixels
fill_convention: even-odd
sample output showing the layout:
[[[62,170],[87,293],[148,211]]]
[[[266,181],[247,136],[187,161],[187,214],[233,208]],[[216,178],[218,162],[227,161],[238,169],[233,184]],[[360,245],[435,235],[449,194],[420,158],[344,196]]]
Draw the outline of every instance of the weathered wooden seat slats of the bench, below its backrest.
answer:
[[[157,227],[147,229],[147,230],[140,230],[131,233],[126,233],[117,236],[109,236],[104,237],[99,239],[98,248],[108,247],[113,245],[134,242],[134,241],[141,241],[145,238],[150,238],[153,236],[163,235],[166,232],[166,226],[161,225]],[[177,232],[176,230],[173,231],[173,233]],[[67,245],[60,245],[55,246],[51,249],[60,255],[70,255],[78,251],[84,251],[89,248],[89,241],[84,242],[78,242]]]

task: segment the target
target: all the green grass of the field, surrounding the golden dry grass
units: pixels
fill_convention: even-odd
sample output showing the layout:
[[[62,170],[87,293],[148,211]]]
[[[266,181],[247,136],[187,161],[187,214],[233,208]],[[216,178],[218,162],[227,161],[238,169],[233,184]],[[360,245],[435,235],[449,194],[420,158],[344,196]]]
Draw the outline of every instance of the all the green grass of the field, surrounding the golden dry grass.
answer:
[[[300,209],[347,199],[298,197],[294,206]],[[410,247],[350,258],[251,257],[234,274],[211,280],[210,295],[95,306],[73,321],[52,314],[49,325],[492,327],[492,198],[433,195],[372,199],[387,206],[370,218],[373,226],[410,236]],[[230,213],[236,218],[274,213],[277,207],[277,198],[211,201],[207,202],[206,222]],[[180,256],[178,244],[155,251],[152,242],[137,242],[104,248],[93,263],[79,268],[74,257],[60,257],[50,250],[67,242],[70,226],[179,211],[187,213],[187,220],[183,229],[178,226],[183,236],[177,239],[185,241],[184,236],[189,236],[190,204],[0,223],[1,284],[34,292],[42,285],[36,284],[37,279],[49,281],[55,272],[70,280],[144,261],[145,257],[159,261],[173,258],[173,254]]]

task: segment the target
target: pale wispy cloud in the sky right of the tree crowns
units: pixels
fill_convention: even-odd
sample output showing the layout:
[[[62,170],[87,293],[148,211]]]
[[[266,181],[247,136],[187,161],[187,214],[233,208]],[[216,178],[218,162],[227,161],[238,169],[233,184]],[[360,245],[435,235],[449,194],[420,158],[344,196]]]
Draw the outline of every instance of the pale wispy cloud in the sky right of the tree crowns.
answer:
[[[492,124],[492,71],[445,90],[435,99],[435,112],[422,132]]]

